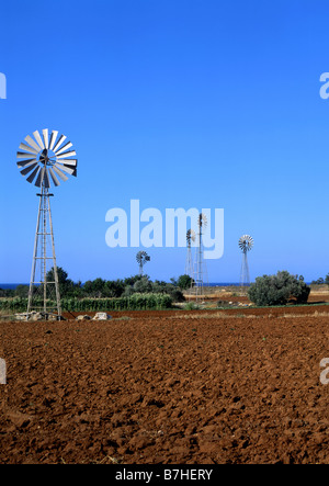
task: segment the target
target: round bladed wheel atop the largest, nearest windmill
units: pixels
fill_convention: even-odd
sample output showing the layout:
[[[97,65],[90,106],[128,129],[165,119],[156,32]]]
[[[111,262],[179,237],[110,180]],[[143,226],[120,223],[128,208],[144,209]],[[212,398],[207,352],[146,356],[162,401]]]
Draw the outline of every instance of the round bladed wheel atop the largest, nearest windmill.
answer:
[[[29,176],[27,182],[34,182],[37,188],[48,189],[50,183],[57,187],[59,180],[67,181],[66,174],[77,177],[78,160],[73,158],[77,152],[72,150],[71,142],[63,145],[66,135],[57,137],[57,131],[52,131],[49,136],[48,128],[44,128],[42,135],[35,131],[20,144],[16,165],[22,169],[22,176]]]

